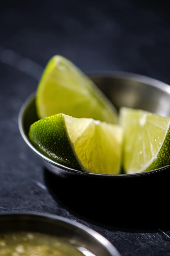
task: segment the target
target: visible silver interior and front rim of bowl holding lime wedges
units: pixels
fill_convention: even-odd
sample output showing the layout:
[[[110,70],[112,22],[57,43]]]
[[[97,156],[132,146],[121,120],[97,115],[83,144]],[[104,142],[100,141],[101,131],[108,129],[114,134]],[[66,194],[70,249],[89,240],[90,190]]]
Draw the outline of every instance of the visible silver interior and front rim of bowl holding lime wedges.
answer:
[[[154,112],[163,117],[170,117],[170,86],[149,78],[131,73],[124,72],[105,72],[90,74],[89,77],[101,89],[101,91],[110,99],[114,106],[119,111],[120,107],[130,107],[135,109],[143,109]],[[28,140],[28,131],[32,123],[38,120],[35,108],[35,94],[31,95],[23,104],[19,114],[19,128],[21,135],[29,147],[41,158],[45,160],[44,164],[52,172],[61,174],[70,172],[74,174],[96,176],[96,177],[133,177],[153,174],[154,172],[162,171],[170,167],[164,166],[157,170],[138,174],[120,174],[120,175],[104,175],[85,173],[77,171],[56,163],[38,152]]]

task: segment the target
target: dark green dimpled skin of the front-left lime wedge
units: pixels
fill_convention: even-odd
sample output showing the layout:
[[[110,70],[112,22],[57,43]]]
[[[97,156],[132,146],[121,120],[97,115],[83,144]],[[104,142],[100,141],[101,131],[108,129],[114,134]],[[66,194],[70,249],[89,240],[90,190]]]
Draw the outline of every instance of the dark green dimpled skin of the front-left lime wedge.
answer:
[[[49,116],[32,124],[29,139],[38,151],[51,160],[82,171],[68,140],[63,114]]]

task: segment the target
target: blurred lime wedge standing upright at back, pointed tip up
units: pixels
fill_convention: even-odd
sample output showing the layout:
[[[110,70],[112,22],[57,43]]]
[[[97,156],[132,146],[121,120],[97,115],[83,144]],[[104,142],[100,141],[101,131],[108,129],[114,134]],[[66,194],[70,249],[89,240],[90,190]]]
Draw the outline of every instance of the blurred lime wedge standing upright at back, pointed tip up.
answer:
[[[38,117],[58,113],[117,123],[117,112],[106,96],[72,62],[54,56],[39,82],[36,107]]]

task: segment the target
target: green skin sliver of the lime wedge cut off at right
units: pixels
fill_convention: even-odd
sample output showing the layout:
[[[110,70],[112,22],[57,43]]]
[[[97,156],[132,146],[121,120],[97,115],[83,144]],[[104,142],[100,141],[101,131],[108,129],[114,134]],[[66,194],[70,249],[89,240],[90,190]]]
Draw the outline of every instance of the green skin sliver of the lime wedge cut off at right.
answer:
[[[149,165],[145,172],[161,168],[168,164],[170,164],[170,128],[166,134],[166,138],[157,158]]]

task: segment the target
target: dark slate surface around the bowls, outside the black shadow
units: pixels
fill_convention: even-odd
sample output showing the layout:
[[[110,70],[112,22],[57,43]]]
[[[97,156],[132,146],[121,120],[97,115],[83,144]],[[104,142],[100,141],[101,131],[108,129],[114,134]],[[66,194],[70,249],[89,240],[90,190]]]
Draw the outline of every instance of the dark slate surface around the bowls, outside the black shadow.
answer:
[[[112,226],[94,223],[54,200],[45,185],[41,160],[22,140],[17,121],[23,101],[35,91],[54,54],[64,55],[84,72],[130,71],[170,84],[168,10],[168,1],[1,4],[0,212],[29,210],[67,217],[104,235],[124,256],[170,255],[168,229],[117,227],[116,220]],[[67,193],[66,188],[63,191]]]

